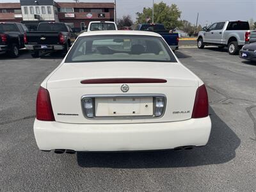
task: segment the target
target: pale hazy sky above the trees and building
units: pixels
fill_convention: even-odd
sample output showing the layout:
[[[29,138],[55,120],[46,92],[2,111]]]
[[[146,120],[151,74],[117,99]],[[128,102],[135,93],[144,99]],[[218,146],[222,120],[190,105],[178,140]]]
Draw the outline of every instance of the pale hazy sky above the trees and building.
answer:
[[[74,2],[72,0],[55,0],[61,2]],[[79,0],[79,2],[113,2],[114,0]],[[182,12],[181,19],[186,19],[192,24],[205,26],[223,20],[249,20],[256,21],[256,0],[154,0],[155,3],[163,1],[166,4],[175,3]],[[19,2],[19,0],[0,0],[0,2]],[[153,0],[116,0],[116,14],[131,15],[136,20],[136,12],[142,12],[143,7],[152,7]]]

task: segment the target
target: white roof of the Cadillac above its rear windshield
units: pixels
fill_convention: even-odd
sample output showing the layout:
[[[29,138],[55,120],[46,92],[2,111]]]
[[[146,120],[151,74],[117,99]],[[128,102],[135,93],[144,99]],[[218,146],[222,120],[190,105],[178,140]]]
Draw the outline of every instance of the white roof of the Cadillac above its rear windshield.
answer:
[[[161,37],[158,33],[150,31],[123,31],[123,30],[106,30],[106,31],[90,31],[84,32],[79,36],[92,36],[92,35],[145,35],[145,36],[158,36]]]

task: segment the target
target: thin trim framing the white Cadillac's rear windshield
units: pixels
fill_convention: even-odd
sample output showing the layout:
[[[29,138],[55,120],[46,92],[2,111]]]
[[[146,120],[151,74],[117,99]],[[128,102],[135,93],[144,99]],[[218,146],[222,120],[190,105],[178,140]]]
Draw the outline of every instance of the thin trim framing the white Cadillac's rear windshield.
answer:
[[[113,35],[88,35],[88,36],[113,36]],[[76,42],[74,43],[74,45],[72,46],[72,48],[70,49],[70,51],[67,54],[67,57],[65,58],[65,62],[64,63],[97,63],[97,62],[109,62],[109,61],[136,61],[136,62],[159,62],[159,63],[178,63],[178,61],[175,58],[175,55],[172,53],[172,51],[170,50],[170,47],[168,44],[166,44],[166,42],[163,40],[163,37],[160,36],[154,36],[155,38],[159,38],[159,40],[163,43],[164,48],[166,49],[166,51],[168,52],[169,56],[170,56],[170,60],[168,61],[162,61],[162,60],[81,60],[81,61],[72,61],[71,59],[71,54],[73,54],[72,51],[74,51],[76,49],[76,45],[78,45],[79,40],[81,40],[81,38],[86,38],[88,36],[79,36],[76,40]],[[115,36],[124,36],[124,35],[115,35]],[[126,35],[126,36],[150,36],[150,35]]]

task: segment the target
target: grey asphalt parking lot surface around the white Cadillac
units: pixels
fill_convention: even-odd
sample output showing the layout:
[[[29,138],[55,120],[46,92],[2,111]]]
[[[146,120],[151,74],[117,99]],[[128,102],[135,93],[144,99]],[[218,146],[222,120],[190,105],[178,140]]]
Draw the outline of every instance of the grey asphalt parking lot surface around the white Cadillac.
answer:
[[[62,58],[0,56],[0,191],[256,191],[256,64],[225,49],[176,54],[207,85],[208,145],[76,155],[41,152],[33,136],[38,86]]]

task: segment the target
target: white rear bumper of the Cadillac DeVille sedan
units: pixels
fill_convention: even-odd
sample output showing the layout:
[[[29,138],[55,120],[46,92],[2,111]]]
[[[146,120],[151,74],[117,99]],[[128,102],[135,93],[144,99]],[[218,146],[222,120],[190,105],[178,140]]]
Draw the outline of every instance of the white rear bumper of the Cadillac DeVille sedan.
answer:
[[[35,139],[40,150],[76,151],[161,150],[206,145],[211,119],[149,124],[65,124],[35,120]]]

